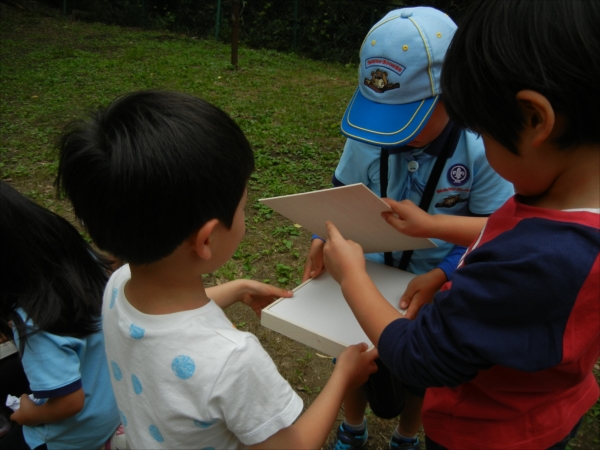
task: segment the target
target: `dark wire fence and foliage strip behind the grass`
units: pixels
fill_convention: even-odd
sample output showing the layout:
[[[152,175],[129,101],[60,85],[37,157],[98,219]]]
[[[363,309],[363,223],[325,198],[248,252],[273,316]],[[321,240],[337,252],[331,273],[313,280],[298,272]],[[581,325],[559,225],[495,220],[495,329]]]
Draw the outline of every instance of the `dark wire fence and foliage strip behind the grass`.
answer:
[[[239,40],[254,48],[338,62],[355,62],[371,26],[393,9],[430,5],[452,17],[470,1],[46,0],[74,19],[168,29],[232,45]]]

